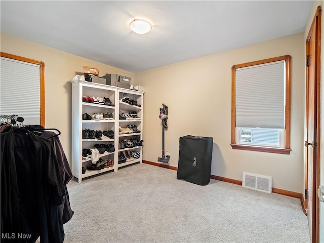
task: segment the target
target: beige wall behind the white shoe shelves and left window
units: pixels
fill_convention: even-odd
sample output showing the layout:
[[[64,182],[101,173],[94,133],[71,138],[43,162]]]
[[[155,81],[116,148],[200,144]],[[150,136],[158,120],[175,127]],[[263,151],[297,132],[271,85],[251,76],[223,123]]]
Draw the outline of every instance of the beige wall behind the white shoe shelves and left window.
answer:
[[[45,127],[61,131],[60,141],[71,164],[71,82],[82,74],[83,66],[99,68],[99,75],[118,73],[134,79],[134,74],[89,59],[1,33],[1,51],[45,63]]]

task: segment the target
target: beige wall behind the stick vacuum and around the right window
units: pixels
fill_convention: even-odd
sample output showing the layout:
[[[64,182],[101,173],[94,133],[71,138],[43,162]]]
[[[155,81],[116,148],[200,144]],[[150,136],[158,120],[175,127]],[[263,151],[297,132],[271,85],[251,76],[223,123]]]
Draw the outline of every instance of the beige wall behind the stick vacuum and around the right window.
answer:
[[[212,175],[242,180],[242,172],[272,176],[272,187],[302,193],[304,190],[304,34],[273,39],[206,57],[135,74],[145,86],[143,159],[161,156],[162,103],[169,106],[166,151],[170,166],[178,166],[179,137],[214,138]],[[292,56],[291,154],[274,154],[231,148],[231,67],[282,55]]]

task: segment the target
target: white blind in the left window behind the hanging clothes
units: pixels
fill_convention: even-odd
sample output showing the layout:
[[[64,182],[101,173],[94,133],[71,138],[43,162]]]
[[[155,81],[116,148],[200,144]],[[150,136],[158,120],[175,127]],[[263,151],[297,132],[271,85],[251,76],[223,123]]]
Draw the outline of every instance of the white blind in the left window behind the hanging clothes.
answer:
[[[40,66],[1,57],[0,113],[19,115],[24,125],[41,121]]]

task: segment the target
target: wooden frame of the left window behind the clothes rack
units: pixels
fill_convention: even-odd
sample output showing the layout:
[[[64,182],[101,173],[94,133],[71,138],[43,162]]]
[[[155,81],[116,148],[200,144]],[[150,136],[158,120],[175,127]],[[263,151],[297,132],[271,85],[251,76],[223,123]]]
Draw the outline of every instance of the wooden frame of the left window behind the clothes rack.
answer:
[[[40,118],[39,124],[43,127],[45,127],[45,63],[42,61],[37,61],[33,59],[29,59],[26,57],[16,56],[13,54],[0,52],[1,57],[6,57],[22,62],[28,62],[39,65],[39,75],[40,75]]]

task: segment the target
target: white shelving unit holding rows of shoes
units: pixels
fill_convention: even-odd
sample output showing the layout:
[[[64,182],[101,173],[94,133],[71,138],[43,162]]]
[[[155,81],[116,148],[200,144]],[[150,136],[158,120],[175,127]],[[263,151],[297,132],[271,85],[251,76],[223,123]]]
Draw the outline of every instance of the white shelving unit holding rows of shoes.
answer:
[[[139,117],[143,116],[143,108],[135,105],[129,105],[125,102],[119,102],[119,97],[122,97],[126,93],[130,99],[137,100],[137,103],[143,105],[143,92],[133,91],[129,89],[122,89],[114,86],[89,83],[89,82],[78,82],[72,84],[72,163],[71,170],[72,175],[78,178],[78,182],[81,182],[83,178],[99,175],[101,173],[112,171],[115,172],[118,168],[131,165],[134,163],[142,163],[142,146],[136,146],[133,148],[118,149],[118,142],[121,139],[135,138],[136,135],[140,135],[142,139],[142,119],[139,120],[119,120],[119,110],[123,113],[136,111]],[[106,97],[114,104],[114,106],[107,106],[101,104],[93,104],[83,102],[83,96],[93,97]],[[113,119],[100,119],[100,120],[83,120],[82,116],[84,113],[92,115],[93,113],[112,113]],[[141,133],[133,134],[121,134],[118,133],[118,128],[127,127],[127,125],[136,125]],[[114,139],[110,139],[106,136],[102,136],[102,140],[98,139],[83,139],[83,130],[100,130],[100,131],[114,131]],[[105,152],[100,154],[103,159],[112,159],[113,167],[104,168],[98,171],[88,170],[88,166],[91,165],[91,158],[83,159],[82,151],[84,148],[94,148],[95,144],[113,144],[114,152]],[[128,161],[126,163],[118,164],[118,152],[124,150],[136,150],[140,152],[140,158]],[[86,173],[82,174],[82,167],[86,169]]]

